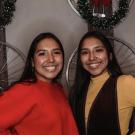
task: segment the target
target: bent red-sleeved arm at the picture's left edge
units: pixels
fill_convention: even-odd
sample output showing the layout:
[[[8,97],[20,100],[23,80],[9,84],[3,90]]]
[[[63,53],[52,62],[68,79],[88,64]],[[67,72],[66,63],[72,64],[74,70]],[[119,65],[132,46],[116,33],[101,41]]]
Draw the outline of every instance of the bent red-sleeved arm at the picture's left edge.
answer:
[[[35,105],[28,87],[15,85],[0,96],[0,133],[20,122]]]

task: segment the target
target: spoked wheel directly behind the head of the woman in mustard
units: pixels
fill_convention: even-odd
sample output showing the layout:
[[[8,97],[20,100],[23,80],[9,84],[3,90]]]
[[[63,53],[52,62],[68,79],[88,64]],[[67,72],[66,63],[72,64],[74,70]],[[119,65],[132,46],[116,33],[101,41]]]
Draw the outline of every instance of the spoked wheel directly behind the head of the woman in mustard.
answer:
[[[113,44],[114,53],[116,54],[117,61],[124,74],[131,74],[135,76],[135,49],[125,41],[115,37],[108,37]],[[67,69],[66,81],[69,88],[73,85],[75,79],[75,69],[77,63],[77,48],[71,54]]]

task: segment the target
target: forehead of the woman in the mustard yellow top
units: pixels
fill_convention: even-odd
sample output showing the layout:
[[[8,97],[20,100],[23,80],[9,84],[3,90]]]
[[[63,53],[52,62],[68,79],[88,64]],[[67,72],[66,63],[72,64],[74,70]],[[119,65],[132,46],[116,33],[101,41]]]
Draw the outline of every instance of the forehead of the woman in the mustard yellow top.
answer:
[[[81,48],[105,47],[104,44],[97,38],[91,37],[83,41]]]

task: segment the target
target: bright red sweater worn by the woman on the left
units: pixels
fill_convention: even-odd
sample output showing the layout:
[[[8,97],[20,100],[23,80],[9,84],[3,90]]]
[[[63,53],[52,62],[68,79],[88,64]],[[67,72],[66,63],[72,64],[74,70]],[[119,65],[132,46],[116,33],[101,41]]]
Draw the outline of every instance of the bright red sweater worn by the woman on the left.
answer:
[[[14,127],[19,135],[78,135],[59,84],[16,84],[0,96],[0,135]]]

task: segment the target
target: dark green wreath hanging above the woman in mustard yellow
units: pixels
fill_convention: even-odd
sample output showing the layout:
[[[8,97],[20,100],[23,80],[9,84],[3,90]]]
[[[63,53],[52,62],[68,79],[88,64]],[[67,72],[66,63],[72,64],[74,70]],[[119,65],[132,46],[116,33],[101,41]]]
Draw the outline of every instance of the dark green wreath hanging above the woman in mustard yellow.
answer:
[[[91,26],[98,29],[113,29],[126,16],[129,11],[128,0],[119,0],[118,9],[110,17],[93,16],[92,5],[88,0],[79,0],[77,3],[77,10],[82,18],[88,21]]]

